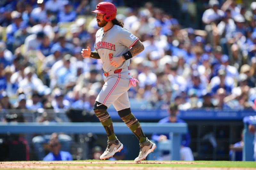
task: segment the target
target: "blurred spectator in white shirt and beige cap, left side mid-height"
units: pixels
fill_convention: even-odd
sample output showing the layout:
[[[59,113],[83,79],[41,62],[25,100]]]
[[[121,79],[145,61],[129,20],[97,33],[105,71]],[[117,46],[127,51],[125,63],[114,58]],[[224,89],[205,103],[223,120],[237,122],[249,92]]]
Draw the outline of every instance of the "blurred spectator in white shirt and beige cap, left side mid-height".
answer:
[[[32,95],[33,91],[43,89],[44,86],[42,80],[34,75],[34,68],[28,66],[24,69],[25,78],[19,82],[19,87],[23,90],[26,95]]]

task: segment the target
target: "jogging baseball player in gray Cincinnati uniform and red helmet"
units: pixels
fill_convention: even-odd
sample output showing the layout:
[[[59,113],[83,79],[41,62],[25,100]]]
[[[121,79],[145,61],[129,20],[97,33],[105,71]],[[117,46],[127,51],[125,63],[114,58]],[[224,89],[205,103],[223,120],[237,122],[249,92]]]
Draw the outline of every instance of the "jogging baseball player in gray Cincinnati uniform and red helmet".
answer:
[[[84,58],[101,59],[105,84],[103,85],[93,110],[104,126],[108,135],[108,146],[100,159],[113,157],[123,149],[123,144],[116,138],[114,128],[107,108],[113,104],[118,115],[140,141],[139,156],[134,159],[139,162],[156,148],[156,144],[148,140],[143,133],[139,121],[132,114],[127,91],[130,86],[136,86],[138,80],[130,75],[130,59],[144,50],[141,41],[127,29],[124,23],[116,19],[116,7],[109,2],[101,2],[96,6],[96,20],[100,28],[96,33],[95,51],[89,47],[82,49]]]

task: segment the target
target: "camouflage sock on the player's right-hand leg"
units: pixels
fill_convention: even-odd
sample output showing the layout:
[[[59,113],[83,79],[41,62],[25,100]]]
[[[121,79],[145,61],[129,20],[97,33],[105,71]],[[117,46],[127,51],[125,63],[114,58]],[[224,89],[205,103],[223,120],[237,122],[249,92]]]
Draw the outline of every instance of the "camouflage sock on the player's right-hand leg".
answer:
[[[145,134],[143,133],[140,122],[134,117],[132,113],[121,117],[126,126],[132,130],[133,134],[139,139],[140,142],[145,142],[147,140]]]

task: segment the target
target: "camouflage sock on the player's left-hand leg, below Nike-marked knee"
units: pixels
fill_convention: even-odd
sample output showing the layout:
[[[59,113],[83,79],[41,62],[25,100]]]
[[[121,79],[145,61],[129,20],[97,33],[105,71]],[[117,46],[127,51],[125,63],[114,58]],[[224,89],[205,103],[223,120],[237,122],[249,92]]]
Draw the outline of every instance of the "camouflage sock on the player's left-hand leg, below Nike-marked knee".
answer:
[[[116,135],[114,133],[113,122],[107,110],[96,109],[94,110],[94,112],[96,116],[99,118],[104,129],[106,130],[108,135],[108,140],[115,140]]]

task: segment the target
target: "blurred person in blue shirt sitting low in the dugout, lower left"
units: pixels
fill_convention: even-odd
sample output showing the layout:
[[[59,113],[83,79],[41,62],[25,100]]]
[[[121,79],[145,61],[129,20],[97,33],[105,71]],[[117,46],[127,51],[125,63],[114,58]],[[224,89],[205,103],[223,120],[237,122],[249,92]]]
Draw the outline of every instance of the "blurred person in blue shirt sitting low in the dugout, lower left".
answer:
[[[50,137],[49,146],[51,152],[44,157],[44,161],[55,161],[55,160],[73,160],[72,155],[66,151],[60,151],[61,144],[58,140],[58,135],[53,133]]]

